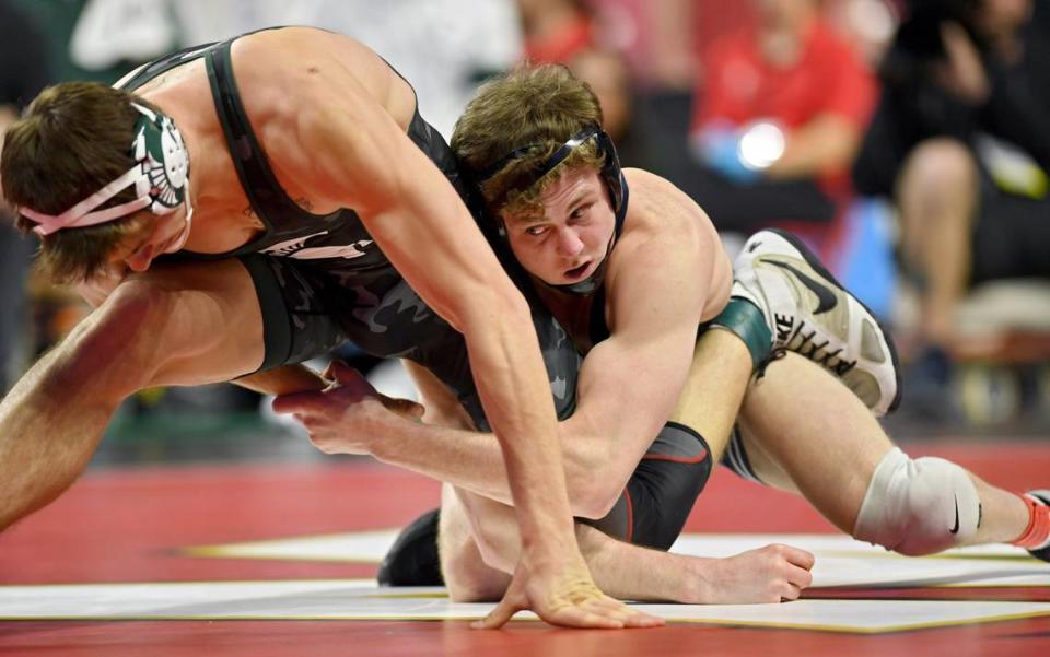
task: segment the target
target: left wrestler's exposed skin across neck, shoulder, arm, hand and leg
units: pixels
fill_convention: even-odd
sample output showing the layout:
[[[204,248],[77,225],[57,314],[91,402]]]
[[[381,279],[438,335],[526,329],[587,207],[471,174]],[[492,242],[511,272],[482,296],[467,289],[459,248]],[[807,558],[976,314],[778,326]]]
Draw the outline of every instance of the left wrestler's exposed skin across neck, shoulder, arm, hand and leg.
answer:
[[[447,180],[407,138],[411,89],[371,50],[327,32],[261,32],[232,52],[247,115],[288,196],[315,213],[353,208],[397,270],[465,336],[521,524],[522,559],[502,609],[528,607],[575,626],[657,623],[604,596],[579,554],[527,305]],[[221,254],[250,240],[260,226],[246,210],[203,62],[140,95],[174,119],[190,153],[185,248]],[[0,527],[75,479],[128,395],[229,380],[262,362],[261,314],[244,267],[155,263],[167,235],[143,237],[112,262],[109,281],[92,285],[95,312],[0,404]],[[292,372],[255,385],[288,391],[304,383]]]

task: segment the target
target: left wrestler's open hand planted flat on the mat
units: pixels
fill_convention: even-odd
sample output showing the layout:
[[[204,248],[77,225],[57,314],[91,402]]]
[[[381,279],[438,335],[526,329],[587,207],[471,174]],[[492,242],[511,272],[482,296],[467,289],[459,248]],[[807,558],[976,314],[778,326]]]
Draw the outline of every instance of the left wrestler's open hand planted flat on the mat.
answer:
[[[565,627],[657,627],[664,620],[602,593],[591,578],[582,559],[562,567],[530,567],[518,561],[514,577],[503,599],[485,620],[475,622],[477,630],[502,627],[515,612],[530,609],[551,625]]]

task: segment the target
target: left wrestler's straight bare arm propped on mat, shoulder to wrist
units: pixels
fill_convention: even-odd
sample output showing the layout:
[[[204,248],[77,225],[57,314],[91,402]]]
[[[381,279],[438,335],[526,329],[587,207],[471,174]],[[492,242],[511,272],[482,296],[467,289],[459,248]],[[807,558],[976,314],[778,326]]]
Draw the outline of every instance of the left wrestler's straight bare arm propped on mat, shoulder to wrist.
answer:
[[[306,104],[315,109],[300,117],[300,132],[315,188],[354,208],[408,283],[464,333],[523,535],[571,544],[553,408],[524,297],[452,186],[378,106],[354,93]]]

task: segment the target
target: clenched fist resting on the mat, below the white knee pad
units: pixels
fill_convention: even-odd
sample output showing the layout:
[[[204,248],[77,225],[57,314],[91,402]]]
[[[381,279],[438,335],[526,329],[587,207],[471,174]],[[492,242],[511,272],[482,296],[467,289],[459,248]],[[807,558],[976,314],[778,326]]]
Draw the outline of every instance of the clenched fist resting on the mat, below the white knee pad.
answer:
[[[750,605],[794,600],[813,584],[813,554],[790,545],[766,545],[726,559],[704,560],[696,600]]]

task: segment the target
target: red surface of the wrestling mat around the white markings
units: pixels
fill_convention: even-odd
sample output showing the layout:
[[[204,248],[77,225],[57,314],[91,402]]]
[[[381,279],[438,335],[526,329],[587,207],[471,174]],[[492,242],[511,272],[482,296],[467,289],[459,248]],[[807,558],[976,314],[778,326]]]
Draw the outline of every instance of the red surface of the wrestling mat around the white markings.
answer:
[[[957,460],[1015,490],[1046,486],[1050,445],[995,444],[911,448]],[[166,583],[371,577],[372,564],[190,556],[217,545],[354,530],[388,529],[433,506],[438,484],[364,460],[318,467],[200,467],[100,471],[61,500],[0,535],[0,580],[14,585]],[[720,470],[698,502],[692,532],[832,532],[801,500]],[[1036,562],[1032,562],[1036,565]],[[1048,571],[1050,573],[1050,571]],[[42,587],[43,589],[44,587]],[[35,600],[26,595],[26,605]],[[1050,601],[1046,586],[814,589],[812,601],[856,599]],[[829,601],[833,601],[829,600]],[[901,602],[895,602],[900,600]],[[805,602],[805,601],[804,601]],[[789,607],[789,606],[782,606]],[[516,622],[474,632],[463,621],[302,620],[7,621],[0,653],[14,655],[1046,655],[1050,618],[941,623],[865,634],[775,624],[690,621],[662,630],[553,630]],[[876,653],[877,652],[877,653]]]

